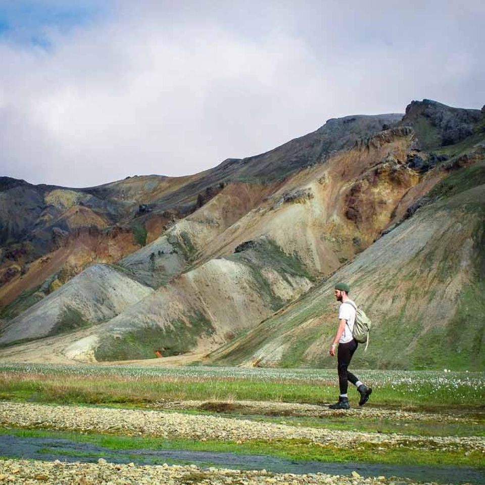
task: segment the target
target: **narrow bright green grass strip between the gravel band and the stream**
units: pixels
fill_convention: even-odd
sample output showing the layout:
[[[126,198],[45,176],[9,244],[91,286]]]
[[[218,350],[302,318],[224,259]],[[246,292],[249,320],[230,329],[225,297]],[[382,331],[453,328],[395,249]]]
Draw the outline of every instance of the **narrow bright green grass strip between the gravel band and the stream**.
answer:
[[[71,432],[5,428],[0,429],[0,433],[13,434],[18,437],[57,438],[78,443],[90,443],[113,450],[114,454],[116,450],[181,449],[276,456],[298,461],[316,460],[321,462],[367,462],[427,466],[453,465],[469,466],[478,469],[483,468],[483,455],[478,451],[471,451],[465,455],[459,451],[431,448],[426,453],[423,453],[419,449],[400,448],[392,444],[384,443],[358,443],[356,446],[341,448],[321,444],[316,445],[314,442],[305,439],[250,440],[243,443],[235,443],[220,440],[207,440],[202,442],[188,439],[168,440],[164,438],[124,437],[98,433],[80,435]],[[105,456],[109,455],[109,452],[105,454]]]

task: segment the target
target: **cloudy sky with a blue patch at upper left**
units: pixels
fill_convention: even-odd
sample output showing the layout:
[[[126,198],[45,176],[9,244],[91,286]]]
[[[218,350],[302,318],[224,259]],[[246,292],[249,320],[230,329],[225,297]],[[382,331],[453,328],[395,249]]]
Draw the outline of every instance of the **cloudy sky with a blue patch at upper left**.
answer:
[[[424,98],[485,104],[485,2],[0,0],[0,176],[181,176]]]

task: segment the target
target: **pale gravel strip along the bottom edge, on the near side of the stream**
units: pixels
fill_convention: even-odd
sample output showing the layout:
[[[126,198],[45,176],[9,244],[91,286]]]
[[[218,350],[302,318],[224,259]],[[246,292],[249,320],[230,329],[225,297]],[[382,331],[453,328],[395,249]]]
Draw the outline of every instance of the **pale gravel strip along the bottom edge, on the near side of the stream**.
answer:
[[[273,474],[265,470],[240,471],[229,469],[200,469],[195,465],[159,465],[136,466],[107,463],[100,459],[98,463],[65,463],[5,460],[0,461],[0,483],[22,483],[23,485],[154,485],[154,484],[190,484],[206,483],[227,484],[264,484],[285,483],[327,484],[327,485],[398,485],[410,484],[411,480],[393,479],[383,476],[363,478],[357,472],[351,475],[325,475],[321,473],[294,475]]]

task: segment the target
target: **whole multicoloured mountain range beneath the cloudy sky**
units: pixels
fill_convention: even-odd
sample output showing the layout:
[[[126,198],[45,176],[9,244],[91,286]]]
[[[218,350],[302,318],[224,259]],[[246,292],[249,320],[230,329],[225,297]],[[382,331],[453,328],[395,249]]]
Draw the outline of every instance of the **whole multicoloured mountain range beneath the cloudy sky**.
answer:
[[[344,279],[374,322],[361,366],[483,368],[484,140],[483,110],[423,100],[188,177],[5,177],[0,359],[333,365]]]

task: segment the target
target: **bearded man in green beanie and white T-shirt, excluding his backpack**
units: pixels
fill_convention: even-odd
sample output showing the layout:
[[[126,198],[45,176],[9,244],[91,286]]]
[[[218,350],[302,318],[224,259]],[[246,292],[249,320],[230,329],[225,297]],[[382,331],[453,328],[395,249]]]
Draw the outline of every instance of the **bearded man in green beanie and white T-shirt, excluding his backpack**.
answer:
[[[356,305],[349,299],[350,287],[347,283],[338,283],[335,285],[335,298],[337,302],[342,302],[338,309],[338,329],[335,333],[329,354],[335,355],[335,347],[338,344],[337,362],[338,362],[338,385],[340,386],[340,396],[338,402],[329,406],[330,409],[349,409],[349,398],[347,396],[347,387],[352,382],[360,394],[359,406],[363,406],[372,393],[371,387],[366,386],[352,372],[347,369],[352,360],[352,356],[359,345],[352,336],[354,329]]]

